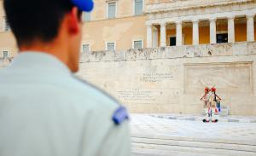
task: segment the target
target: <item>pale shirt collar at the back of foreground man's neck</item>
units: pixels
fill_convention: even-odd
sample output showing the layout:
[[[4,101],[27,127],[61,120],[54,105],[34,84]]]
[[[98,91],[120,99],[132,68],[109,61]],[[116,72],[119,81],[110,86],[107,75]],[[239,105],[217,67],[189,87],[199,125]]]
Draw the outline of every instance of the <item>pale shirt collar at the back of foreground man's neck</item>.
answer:
[[[71,74],[64,63],[54,55],[44,52],[22,52],[15,57],[9,68],[18,68],[32,72],[50,72],[52,74]]]

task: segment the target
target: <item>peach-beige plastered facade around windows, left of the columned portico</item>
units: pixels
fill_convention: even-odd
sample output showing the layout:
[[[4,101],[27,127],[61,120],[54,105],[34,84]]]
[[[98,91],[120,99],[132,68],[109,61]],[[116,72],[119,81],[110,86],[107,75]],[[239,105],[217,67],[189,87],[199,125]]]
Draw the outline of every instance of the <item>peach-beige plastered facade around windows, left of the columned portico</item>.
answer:
[[[108,3],[116,4],[115,17],[111,19],[108,18]],[[135,13],[135,0],[96,0],[90,20],[83,22],[82,45],[89,45],[90,51],[105,50],[108,42],[115,43],[117,50],[131,49],[134,41],[146,45],[146,20],[146,15]],[[12,56],[17,52],[15,39],[5,27],[3,0],[0,0],[0,57],[3,50],[8,50]]]

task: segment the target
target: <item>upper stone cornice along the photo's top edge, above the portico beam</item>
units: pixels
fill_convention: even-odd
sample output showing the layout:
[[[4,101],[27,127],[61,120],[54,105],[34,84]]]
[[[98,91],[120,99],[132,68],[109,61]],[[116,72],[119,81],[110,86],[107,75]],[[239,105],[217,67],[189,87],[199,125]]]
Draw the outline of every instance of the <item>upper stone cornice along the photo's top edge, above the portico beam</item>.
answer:
[[[219,5],[251,2],[253,2],[253,0],[176,0],[169,3],[148,4],[145,7],[144,14],[168,12],[178,9],[207,8]]]

